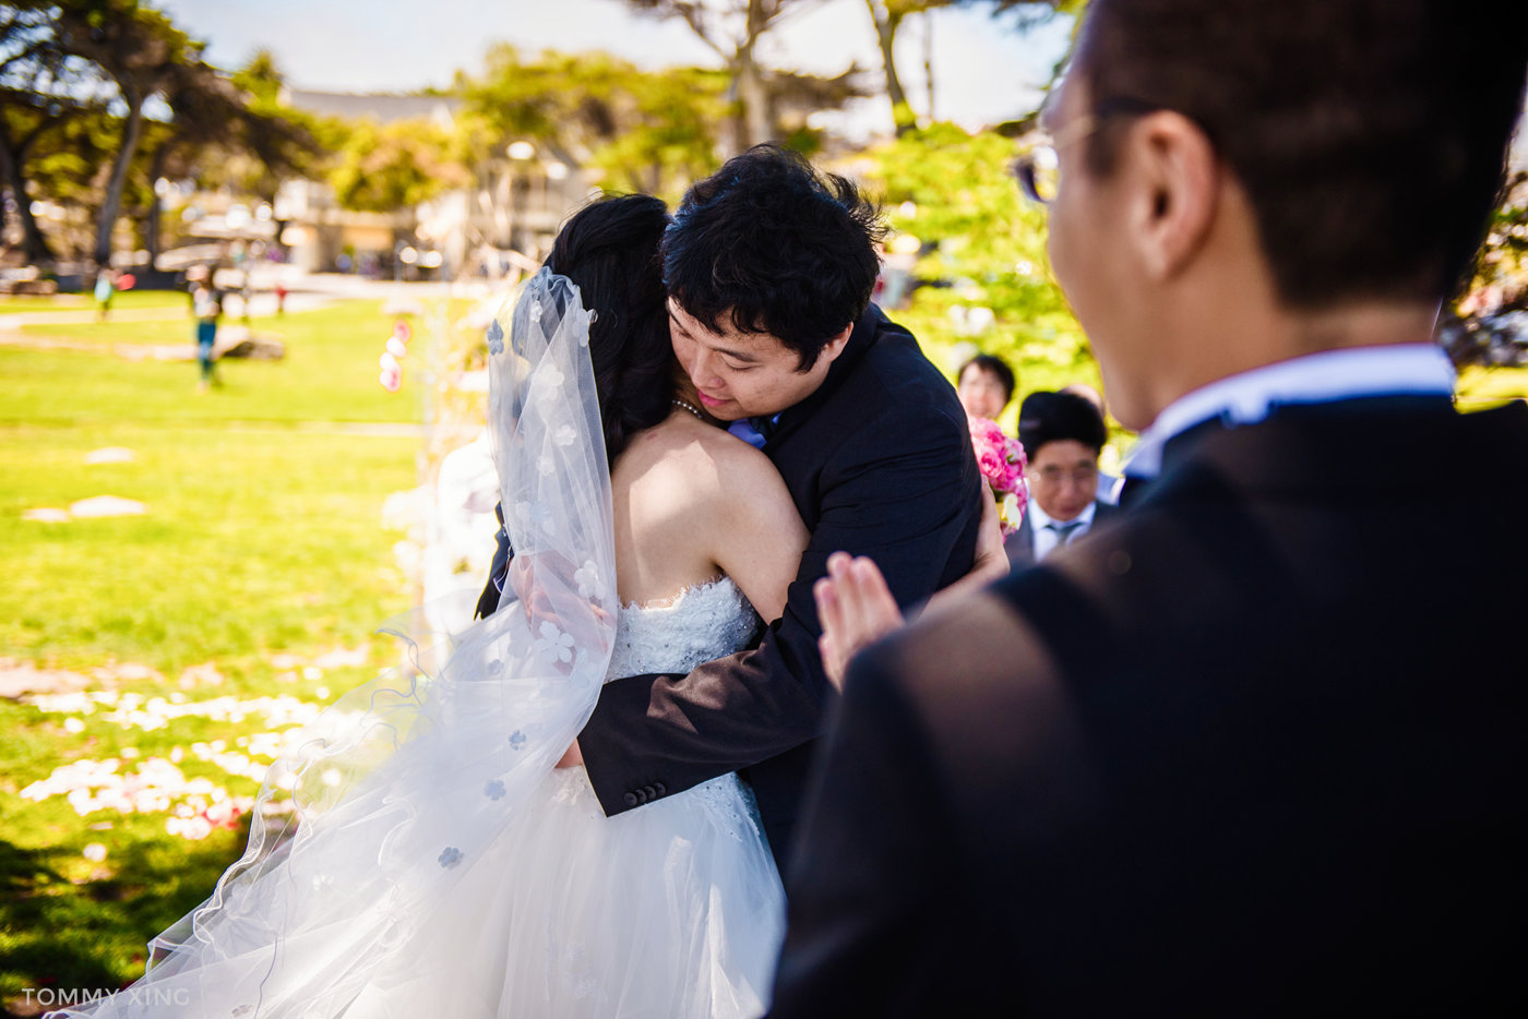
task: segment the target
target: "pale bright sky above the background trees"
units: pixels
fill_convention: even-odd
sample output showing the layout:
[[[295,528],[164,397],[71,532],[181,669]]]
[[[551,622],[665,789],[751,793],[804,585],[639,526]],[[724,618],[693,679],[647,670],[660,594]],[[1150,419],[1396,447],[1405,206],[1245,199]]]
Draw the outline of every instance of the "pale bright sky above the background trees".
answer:
[[[269,49],[298,89],[406,92],[445,87],[475,73],[489,46],[568,52],[604,49],[643,67],[718,66],[720,58],[678,20],[633,12],[625,0],[157,0],[209,63],[232,70]],[[836,75],[851,61],[880,82],[880,53],[865,0],[817,0],[766,37],[775,67]],[[966,127],[1034,108],[1038,86],[1067,47],[1070,24],[1019,34],[986,9],[909,18],[897,69],[920,113],[927,110],[923,53],[932,35],[935,115]],[[839,122],[851,134],[886,131],[886,99],[866,99]]]

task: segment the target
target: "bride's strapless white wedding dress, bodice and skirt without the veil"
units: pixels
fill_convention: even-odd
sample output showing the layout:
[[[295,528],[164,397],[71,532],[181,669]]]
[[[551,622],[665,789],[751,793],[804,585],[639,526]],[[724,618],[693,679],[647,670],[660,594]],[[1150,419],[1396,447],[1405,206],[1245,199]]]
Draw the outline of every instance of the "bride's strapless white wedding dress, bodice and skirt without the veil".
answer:
[[[686,672],[747,646],[727,577],[617,613],[610,677]],[[735,775],[605,817],[582,767],[552,772],[465,872],[416,964],[347,1019],[758,1016],[785,900]]]

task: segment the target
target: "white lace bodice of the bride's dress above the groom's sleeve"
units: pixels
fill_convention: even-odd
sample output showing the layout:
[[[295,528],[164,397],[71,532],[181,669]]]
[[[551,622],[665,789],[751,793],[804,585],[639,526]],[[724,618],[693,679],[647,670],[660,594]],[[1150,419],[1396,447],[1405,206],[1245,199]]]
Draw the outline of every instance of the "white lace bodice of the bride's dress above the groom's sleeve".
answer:
[[[607,678],[689,672],[701,662],[741,651],[758,626],[758,614],[730,577],[697,584],[662,602],[622,605]]]

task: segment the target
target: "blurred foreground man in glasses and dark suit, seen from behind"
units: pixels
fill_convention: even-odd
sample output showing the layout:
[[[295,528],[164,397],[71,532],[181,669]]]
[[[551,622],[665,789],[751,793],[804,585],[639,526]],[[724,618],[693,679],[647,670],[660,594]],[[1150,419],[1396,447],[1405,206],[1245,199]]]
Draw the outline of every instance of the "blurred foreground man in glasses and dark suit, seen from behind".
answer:
[[[1432,342],[1525,75],[1523,3],[1088,5],[1048,244],[1155,477],[850,668],[776,1016],[1525,1013],[1528,405]]]

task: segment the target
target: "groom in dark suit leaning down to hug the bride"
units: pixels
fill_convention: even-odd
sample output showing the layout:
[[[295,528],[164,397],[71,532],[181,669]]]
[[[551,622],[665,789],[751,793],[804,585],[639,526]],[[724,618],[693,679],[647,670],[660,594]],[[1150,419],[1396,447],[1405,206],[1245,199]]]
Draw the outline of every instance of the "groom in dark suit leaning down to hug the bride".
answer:
[[[876,556],[906,607],[969,573],[978,544],[981,480],[955,390],[869,304],[879,235],[854,185],[775,147],[685,196],[662,251],[674,353],[704,409],[775,463],[811,541],[755,649],[607,683],[562,761],[582,758],[607,814],[741,772],[782,872],[836,701],[811,593],[828,555]]]

